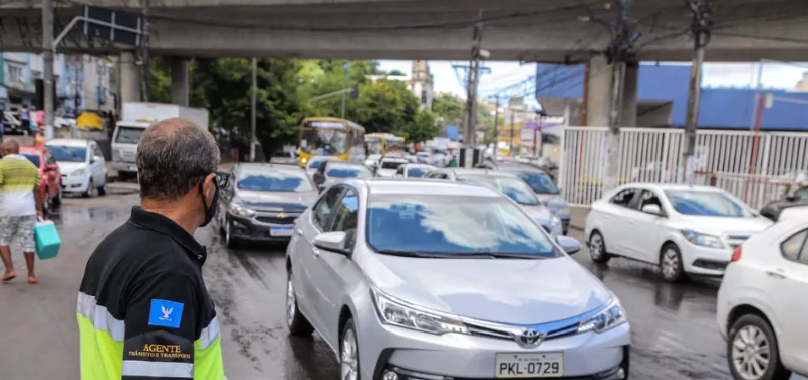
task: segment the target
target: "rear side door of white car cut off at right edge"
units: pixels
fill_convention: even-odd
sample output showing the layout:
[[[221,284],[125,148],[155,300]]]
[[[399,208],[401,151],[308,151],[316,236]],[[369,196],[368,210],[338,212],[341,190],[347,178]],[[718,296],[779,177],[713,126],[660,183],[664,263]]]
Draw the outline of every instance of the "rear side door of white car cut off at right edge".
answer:
[[[808,229],[800,230],[781,240],[780,255],[772,255],[771,260],[761,263],[766,276],[768,296],[774,302],[775,318],[781,332],[780,353],[787,362],[794,364],[794,370],[808,372],[808,302],[798,294],[808,294]]]

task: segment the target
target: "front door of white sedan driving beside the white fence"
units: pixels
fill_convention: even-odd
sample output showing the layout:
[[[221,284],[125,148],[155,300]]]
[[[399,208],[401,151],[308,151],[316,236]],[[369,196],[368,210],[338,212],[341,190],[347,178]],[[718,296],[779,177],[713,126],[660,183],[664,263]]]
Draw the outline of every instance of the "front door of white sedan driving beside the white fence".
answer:
[[[643,212],[644,205],[657,205],[662,213],[658,215]],[[651,190],[642,190],[634,202],[634,207],[627,213],[625,220],[633,239],[626,244],[626,248],[637,260],[657,263],[661,247],[659,230],[661,224],[667,220],[667,213],[659,201],[659,195]]]

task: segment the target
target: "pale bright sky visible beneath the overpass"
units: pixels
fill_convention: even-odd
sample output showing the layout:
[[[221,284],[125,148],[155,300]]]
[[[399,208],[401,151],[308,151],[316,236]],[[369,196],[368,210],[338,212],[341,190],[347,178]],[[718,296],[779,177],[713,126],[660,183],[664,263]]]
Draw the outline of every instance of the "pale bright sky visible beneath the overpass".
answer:
[[[429,61],[429,69],[435,76],[435,91],[450,92],[465,98],[462,83],[465,70],[452,68],[452,65],[468,65],[468,61]],[[666,63],[684,65],[683,63]],[[536,65],[520,64],[517,61],[487,61],[490,74],[480,78],[479,97],[485,99],[498,89],[523,82],[536,74]],[[703,87],[757,87],[757,74],[760,63],[707,63],[705,64]],[[411,74],[412,61],[379,61],[381,70],[400,70]],[[802,74],[808,71],[808,63],[764,62],[761,84],[764,88],[789,89],[796,86]]]

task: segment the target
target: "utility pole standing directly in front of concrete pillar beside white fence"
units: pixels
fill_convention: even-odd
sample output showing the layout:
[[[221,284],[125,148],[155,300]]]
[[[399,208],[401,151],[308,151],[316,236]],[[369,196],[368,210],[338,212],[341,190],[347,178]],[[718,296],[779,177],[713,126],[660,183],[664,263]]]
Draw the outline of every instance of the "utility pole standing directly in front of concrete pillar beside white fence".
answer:
[[[620,175],[620,125],[623,110],[623,82],[625,80],[625,61],[632,55],[633,36],[629,27],[629,11],[633,0],[615,0],[614,17],[612,19],[612,43],[606,52],[612,64],[612,82],[608,115],[608,137],[606,140],[606,177],[603,191],[617,188]]]

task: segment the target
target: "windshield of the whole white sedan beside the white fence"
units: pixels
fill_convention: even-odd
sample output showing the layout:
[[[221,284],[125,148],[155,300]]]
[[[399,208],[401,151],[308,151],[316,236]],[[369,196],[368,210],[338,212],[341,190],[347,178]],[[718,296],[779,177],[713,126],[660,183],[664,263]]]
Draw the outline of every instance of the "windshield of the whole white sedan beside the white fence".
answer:
[[[701,215],[705,217],[754,217],[754,215],[738,201],[723,192],[704,190],[666,190],[673,209],[685,215]]]

